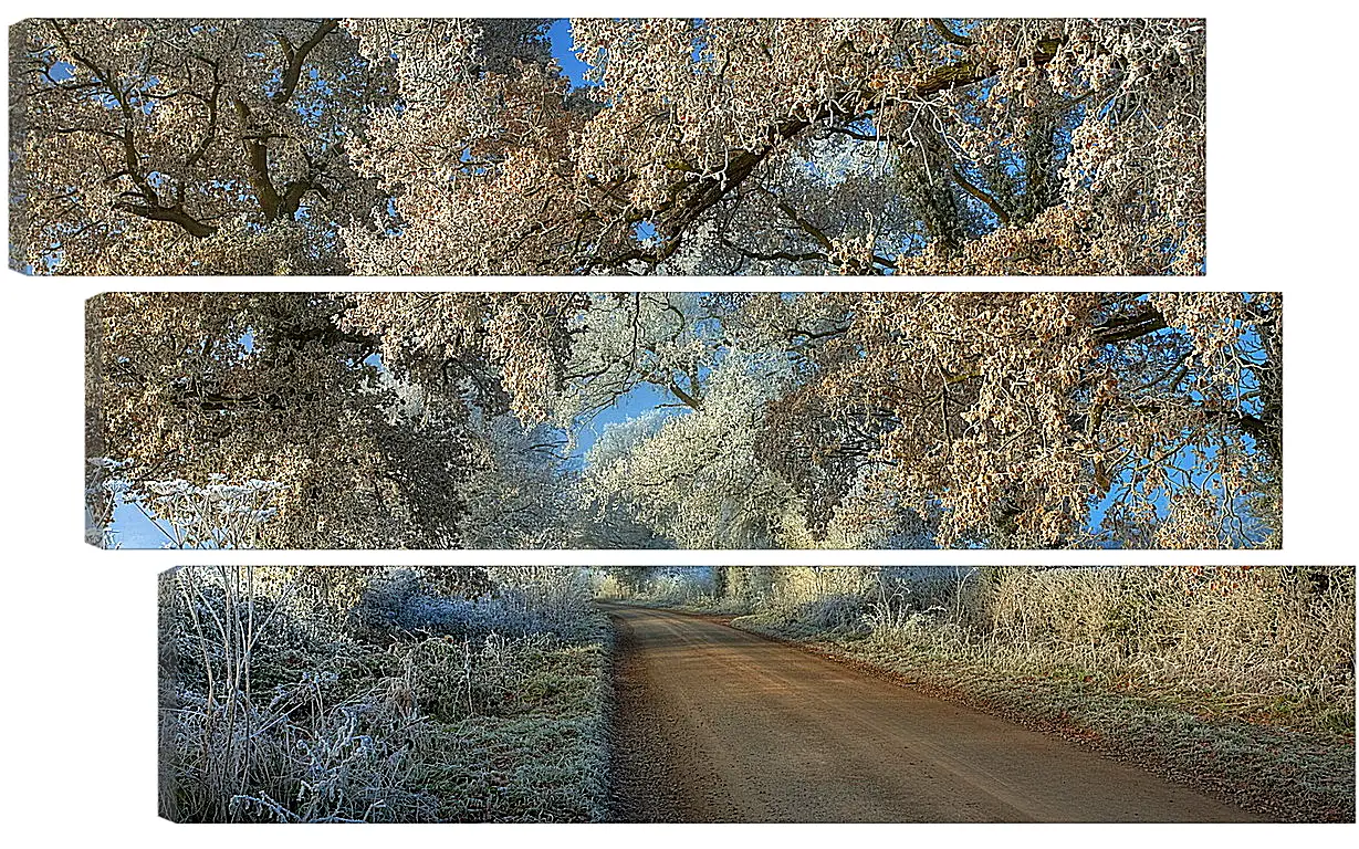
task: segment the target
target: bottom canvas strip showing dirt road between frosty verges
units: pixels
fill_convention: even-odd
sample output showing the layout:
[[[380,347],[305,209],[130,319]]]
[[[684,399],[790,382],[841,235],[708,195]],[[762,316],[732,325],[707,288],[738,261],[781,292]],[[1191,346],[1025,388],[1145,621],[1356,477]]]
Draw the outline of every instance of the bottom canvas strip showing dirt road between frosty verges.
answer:
[[[1355,819],[1352,566],[186,566],[179,822]]]

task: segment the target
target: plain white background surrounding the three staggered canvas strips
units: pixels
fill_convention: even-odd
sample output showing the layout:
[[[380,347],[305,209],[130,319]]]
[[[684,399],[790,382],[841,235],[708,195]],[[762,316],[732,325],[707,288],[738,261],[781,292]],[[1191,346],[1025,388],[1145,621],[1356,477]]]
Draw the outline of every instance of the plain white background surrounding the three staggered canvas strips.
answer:
[[[561,562],[561,564],[1354,564],[1356,522],[1352,355],[1359,345],[1351,86],[1355,48],[1341,39],[1354,15],[1341,4],[1287,3],[939,3],[667,1],[647,4],[395,1],[332,3],[52,3],[24,15],[1195,15],[1210,38],[1210,240],[1205,278],[894,278],[912,289],[1233,289],[1286,293],[1284,550],[1237,553],[1117,552],[261,552],[258,564]],[[98,552],[83,545],[83,302],[106,289],[575,289],[549,278],[46,278],[7,272],[4,667],[0,781],[11,845],[266,846],[496,841],[598,845],[646,841],[776,841],[780,845],[934,844],[1264,844],[1349,842],[1351,826],[390,826],[243,829],[174,826],[156,819],[155,576],[220,554]],[[594,288],[633,280],[593,281]],[[688,285],[686,285],[688,284]],[[818,285],[834,285],[833,280]],[[792,288],[787,278],[669,278],[652,288]],[[864,288],[862,280],[853,283]],[[646,287],[643,287],[646,288]],[[826,829],[830,829],[829,831]],[[1302,831],[1306,829],[1306,833]],[[420,830],[419,834],[414,831]],[[701,833],[699,833],[701,830]],[[1349,838],[1344,838],[1344,834]]]

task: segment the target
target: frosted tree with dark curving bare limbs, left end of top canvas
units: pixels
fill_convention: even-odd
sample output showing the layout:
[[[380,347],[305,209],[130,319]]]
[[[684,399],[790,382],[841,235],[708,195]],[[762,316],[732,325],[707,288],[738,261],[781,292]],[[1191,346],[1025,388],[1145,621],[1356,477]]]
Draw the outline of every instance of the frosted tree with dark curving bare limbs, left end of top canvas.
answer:
[[[338,273],[378,204],[348,144],[390,83],[338,22],[16,24],[15,262],[75,274]]]

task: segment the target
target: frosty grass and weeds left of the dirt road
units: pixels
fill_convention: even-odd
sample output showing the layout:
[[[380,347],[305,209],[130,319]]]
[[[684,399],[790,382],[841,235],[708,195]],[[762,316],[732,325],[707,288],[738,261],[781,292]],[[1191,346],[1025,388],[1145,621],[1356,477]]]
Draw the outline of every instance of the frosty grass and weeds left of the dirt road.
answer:
[[[534,607],[525,617],[523,604],[501,598],[473,611],[474,621],[463,607],[462,618],[440,619],[429,610],[447,606],[419,580],[405,580],[393,599],[390,576],[378,575],[382,611],[397,615],[326,624],[280,596],[242,598],[238,571],[226,575],[226,591],[202,572],[163,576],[163,816],[605,816],[610,632],[584,588],[553,595],[571,610]],[[425,628],[404,629],[416,614]],[[546,621],[572,626],[540,630]]]

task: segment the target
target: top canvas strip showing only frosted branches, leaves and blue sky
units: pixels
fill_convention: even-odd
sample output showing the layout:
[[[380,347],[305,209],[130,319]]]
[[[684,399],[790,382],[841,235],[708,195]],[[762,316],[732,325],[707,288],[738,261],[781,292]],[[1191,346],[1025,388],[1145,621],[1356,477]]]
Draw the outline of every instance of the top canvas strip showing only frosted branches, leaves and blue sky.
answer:
[[[1203,274],[1199,19],[10,34],[37,274]]]

